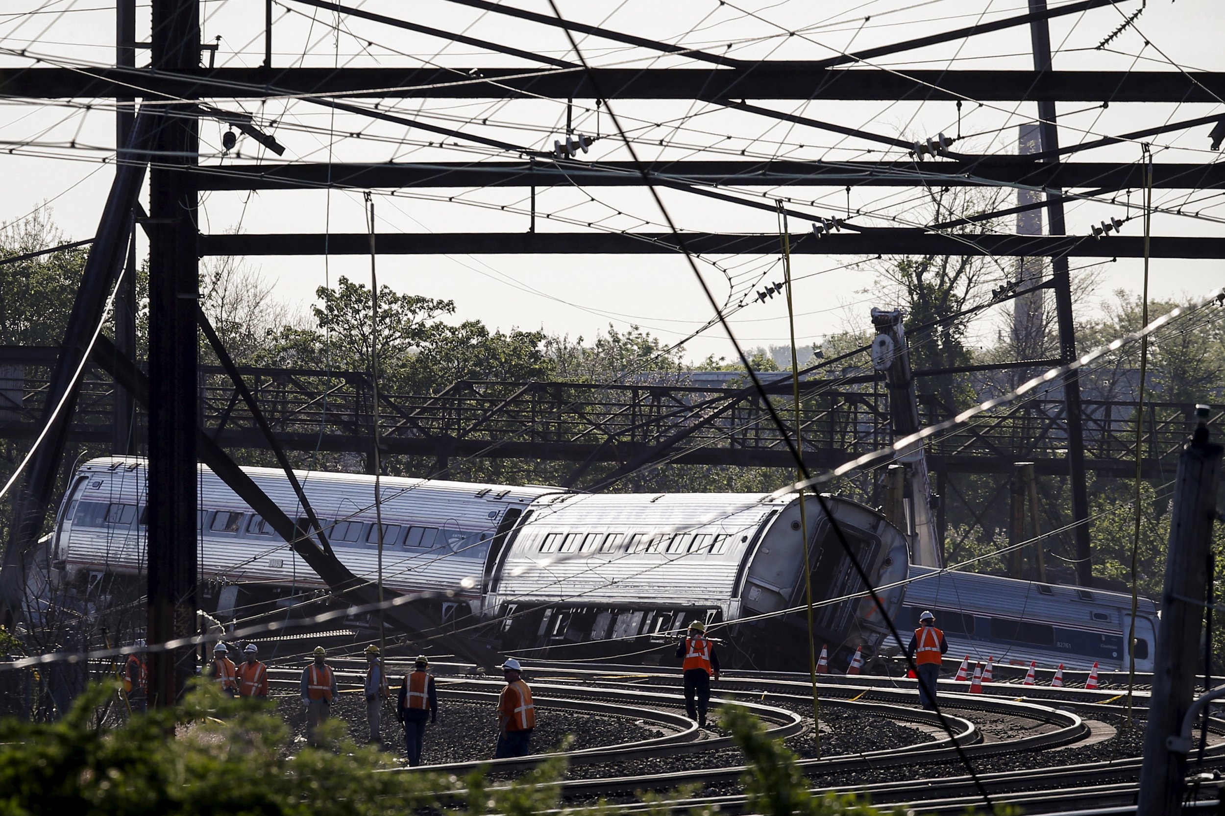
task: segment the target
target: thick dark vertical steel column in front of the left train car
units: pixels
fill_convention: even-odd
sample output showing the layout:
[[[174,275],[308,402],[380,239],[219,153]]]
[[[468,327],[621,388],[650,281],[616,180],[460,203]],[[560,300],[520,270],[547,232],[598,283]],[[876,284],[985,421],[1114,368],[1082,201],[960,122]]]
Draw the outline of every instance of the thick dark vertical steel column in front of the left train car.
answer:
[[[153,0],[153,69],[200,65],[198,0]],[[197,163],[192,104],[168,105],[149,174],[148,642],[196,631],[196,261]],[[179,165],[179,167],[174,167]],[[194,649],[151,649],[149,700],[173,706],[194,673]]]

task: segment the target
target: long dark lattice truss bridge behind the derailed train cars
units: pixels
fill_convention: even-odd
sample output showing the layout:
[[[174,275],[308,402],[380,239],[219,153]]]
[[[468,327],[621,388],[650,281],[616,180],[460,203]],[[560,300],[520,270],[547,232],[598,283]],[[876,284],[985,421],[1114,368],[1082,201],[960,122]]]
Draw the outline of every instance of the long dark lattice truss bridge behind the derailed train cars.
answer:
[[[7,354],[5,353],[7,352]],[[0,348],[0,437],[28,440],[42,429],[48,372],[58,349]],[[16,360],[16,363],[15,363]],[[369,453],[374,390],[365,372],[240,368],[276,439],[292,451]],[[201,366],[198,403],[206,433],[232,448],[263,448],[250,409],[225,372]],[[920,372],[921,374],[921,372]],[[684,375],[682,375],[684,376]],[[920,380],[921,382],[921,380]],[[615,474],[657,463],[788,468],[794,459],[752,388],[681,382],[497,382],[463,380],[437,393],[379,391],[380,450],[385,456],[432,457],[436,475],[456,458],[575,462],[572,486],[594,463],[615,463]],[[790,386],[771,386],[771,399],[793,426]],[[924,425],[956,413],[919,388]],[[805,461],[832,468],[889,445],[883,381],[859,377],[801,382]],[[108,444],[123,401],[114,382],[97,372],[81,385],[71,435]],[[1084,399],[1088,469],[1109,477],[1136,475],[1137,403]],[[1216,408],[1219,414],[1221,408]],[[142,433],[142,414],[136,429]],[[1187,440],[1194,406],[1144,403],[1143,474],[1174,472]],[[126,426],[121,425],[121,426]],[[1019,401],[947,435],[929,440],[937,474],[1006,474],[1017,461],[1045,475],[1067,473],[1067,420],[1062,395]]]

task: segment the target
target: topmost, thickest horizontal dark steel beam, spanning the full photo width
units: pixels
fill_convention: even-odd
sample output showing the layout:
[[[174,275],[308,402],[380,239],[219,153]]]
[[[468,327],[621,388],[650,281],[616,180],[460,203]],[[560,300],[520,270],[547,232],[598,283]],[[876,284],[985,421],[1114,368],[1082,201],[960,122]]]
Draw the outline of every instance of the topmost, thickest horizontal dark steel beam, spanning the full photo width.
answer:
[[[590,76],[594,75],[595,85]],[[134,87],[135,86],[135,89]],[[758,62],[751,69],[40,69],[0,76],[0,97],[27,99],[349,98],[507,99],[897,99],[984,102],[1169,102],[1215,104],[1225,72],[1208,71],[881,71]],[[1207,140],[1207,135],[1205,135]]]

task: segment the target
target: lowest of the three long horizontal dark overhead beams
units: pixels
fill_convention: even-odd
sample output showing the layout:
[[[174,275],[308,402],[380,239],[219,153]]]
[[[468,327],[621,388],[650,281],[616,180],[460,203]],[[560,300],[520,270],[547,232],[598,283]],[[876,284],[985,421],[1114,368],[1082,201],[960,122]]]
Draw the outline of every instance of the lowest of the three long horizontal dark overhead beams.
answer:
[[[685,245],[701,255],[771,255],[777,235],[684,233]],[[381,234],[380,255],[650,255],[679,252],[671,233],[430,233]],[[366,233],[217,234],[200,236],[205,255],[365,255]],[[979,235],[973,243],[908,229],[833,233],[805,238],[794,255],[1003,255],[1013,257],[1143,257],[1144,240],[1131,235]],[[1152,257],[1225,259],[1225,239],[1152,239]]]

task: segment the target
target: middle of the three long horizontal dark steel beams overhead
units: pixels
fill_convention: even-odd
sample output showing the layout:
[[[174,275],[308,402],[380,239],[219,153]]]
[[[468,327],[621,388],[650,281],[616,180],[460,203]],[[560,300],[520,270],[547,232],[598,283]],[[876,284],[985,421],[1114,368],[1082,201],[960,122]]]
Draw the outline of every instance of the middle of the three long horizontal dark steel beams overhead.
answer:
[[[1136,163],[1078,162],[1033,164],[1016,161],[974,162],[648,162],[650,175],[691,184],[748,186],[979,186],[1140,187]],[[197,190],[356,190],[408,187],[549,187],[641,186],[631,162],[436,162],[382,164],[229,164],[190,170]],[[1154,164],[1153,186],[1160,190],[1225,189],[1225,163]],[[780,191],[775,191],[780,192]]]

